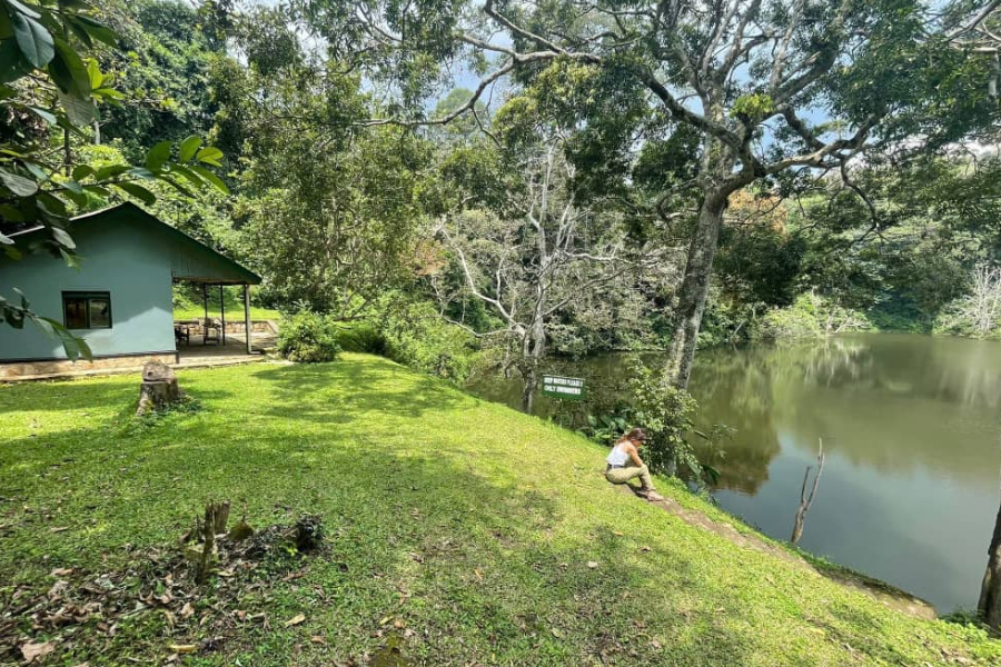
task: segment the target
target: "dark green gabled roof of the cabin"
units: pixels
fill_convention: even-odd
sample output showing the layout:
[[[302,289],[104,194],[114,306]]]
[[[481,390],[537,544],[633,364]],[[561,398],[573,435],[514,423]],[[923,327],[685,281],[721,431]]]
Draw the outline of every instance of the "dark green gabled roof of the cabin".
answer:
[[[81,226],[99,225],[102,221],[155,226],[157,229],[165,231],[168,238],[174,241],[163,250],[170,255],[170,273],[175,280],[209,285],[260,285],[260,276],[250,269],[181,230],[167,225],[131,202],[119,203],[118,206],[73,218],[70,221],[70,233]],[[32,227],[8,236],[20,237],[42,231],[43,229],[46,228],[41,226]]]

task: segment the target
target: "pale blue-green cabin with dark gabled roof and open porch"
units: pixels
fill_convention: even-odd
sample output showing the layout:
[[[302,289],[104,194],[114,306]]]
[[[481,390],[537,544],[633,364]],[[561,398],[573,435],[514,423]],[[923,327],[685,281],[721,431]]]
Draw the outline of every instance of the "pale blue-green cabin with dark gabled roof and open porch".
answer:
[[[138,206],[122,203],[73,219],[79,268],[48,253],[28,252],[43,228],[11,236],[24,257],[0,259],[0,290],[13,299],[20,289],[38,315],[63,322],[83,338],[95,361],[135,357],[177,359],[172,285],[242,285],[244,319],[249,327],[247,286],[260,277]],[[234,313],[237,315],[237,313]],[[249,350],[249,335],[248,352]],[[30,375],[12,366],[66,364],[58,340],[37,327],[0,325],[0,377]]]

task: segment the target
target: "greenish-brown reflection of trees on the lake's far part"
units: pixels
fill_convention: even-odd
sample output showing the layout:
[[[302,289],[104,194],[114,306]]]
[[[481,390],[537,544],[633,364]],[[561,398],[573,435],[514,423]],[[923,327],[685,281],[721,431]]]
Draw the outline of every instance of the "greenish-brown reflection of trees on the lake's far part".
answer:
[[[704,420],[740,429],[722,486],[754,492],[767,480],[779,434],[804,452],[823,436],[858,466],[886,474],[925,467],[993,485],[1001,346],[915,336],[720,350],[693,389]]]

